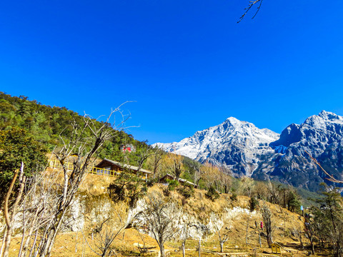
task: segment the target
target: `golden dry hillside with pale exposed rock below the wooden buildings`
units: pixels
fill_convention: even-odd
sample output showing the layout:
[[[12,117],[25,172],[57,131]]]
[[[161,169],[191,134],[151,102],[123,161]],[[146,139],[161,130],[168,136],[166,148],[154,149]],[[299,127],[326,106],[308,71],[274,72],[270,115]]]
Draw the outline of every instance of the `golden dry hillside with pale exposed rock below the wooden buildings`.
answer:
[[[59,234],[57,238],[52,256],[96,256],[86,245],[83,235],[86,236],[88,243],[95,247],[95,241],[91,240],[91,228],[94,228],[98,222],[99,215],[105,217],[110,215],[111,211],[118,210],[116,209],[118,206],[111,203],[106,190],[104,190],[111,181],[113,178],[87,175],[76,198],[76,203],[68,215],[64,233]],[[94,186],[97,188],[96,190],[94,190]],[[156,185],[149,188],[148,193],[163,194],[165,189],[166,186]],[[261,239],[262,248],[259,247],[258,229],[255,228],[255,221],[259,224],[262,217],[259,209],[249,211],[249,197],[238,196],[237,200],[232,200],[230,198],[232,194],[222,194],[219,199],[211,201],[204,196],[205,193],[206,191],[195,189],[194,196],[187,199],[177,191],[172,191],[170,196],[164,196],[165,201],[178,203],[183,213],[182,223],[191,221],[192,223],[203,224],[209,229],[206,233],[196,230],[189,231],[190,236],[187,237],[186,241],[187,256],[198,255],[196,248],[199,243],[199,236],[202,237],[202,256],[220,256],[216,226],[221,229],[222,233],[227,233],[229,236],[229,240],[224,243],[224,254],[252,256],[254,251],[257,251],[257,253],[264,252],[264,256],[272,256],[264,236]],[[260,201],[260,206],[262,204]],[[271,203],[265,204],[272,211],[274,241],[282,245],[282,255],[306,256],[308,250],[299,248],[297,236],[297,231],[302,230],[303,219],[298,214],[279,206]],[[139,205],[140,203],[137,208],[140,208]],[[120,205],[121,210],[123,207]],[[159,248],[151,236],[144,233],[139,223],[136,224],[135,228],[125,229],[119,233],[114,241],[116,256],[157,256]],[[14,239],[10,256],[16,256],[20,240],[21,238]],[[137,246],[143,246],[144,243],[149,251],[142,254],[139,253]],[[169,256],[182,256],[181,245],[182,238],[176,236],[166,243],[166,252],[169,253]]]

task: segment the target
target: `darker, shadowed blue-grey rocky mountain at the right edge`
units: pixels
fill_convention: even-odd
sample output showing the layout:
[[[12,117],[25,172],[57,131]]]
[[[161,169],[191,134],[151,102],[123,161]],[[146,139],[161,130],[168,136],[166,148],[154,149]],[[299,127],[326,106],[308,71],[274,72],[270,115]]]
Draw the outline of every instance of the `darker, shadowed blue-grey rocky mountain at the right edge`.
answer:
[[[325,174],[305,151],[317,158],[326,171],[342,179],[342,139],[342,116],[327,111],[310,116],[303,124],[289,125],[282,131],[279,140],[270,143],[275,153],[263,156],[263,164],[256,169],[253,177],[270,178],[315,191],[325,180]]]

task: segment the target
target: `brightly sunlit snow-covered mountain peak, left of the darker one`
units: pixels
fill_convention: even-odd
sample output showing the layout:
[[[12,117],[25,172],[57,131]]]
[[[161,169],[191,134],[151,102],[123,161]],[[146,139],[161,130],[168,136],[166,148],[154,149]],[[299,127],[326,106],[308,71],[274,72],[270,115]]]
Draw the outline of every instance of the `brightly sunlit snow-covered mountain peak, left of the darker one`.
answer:
[[[269,143],[278,138],[279,134],[269,129],[258,129],[254,124],[230,117],[180,142],[155,145],[202,163],[227,166],[237,176],[250,176],[258,166],[259,156],[274,152]]]

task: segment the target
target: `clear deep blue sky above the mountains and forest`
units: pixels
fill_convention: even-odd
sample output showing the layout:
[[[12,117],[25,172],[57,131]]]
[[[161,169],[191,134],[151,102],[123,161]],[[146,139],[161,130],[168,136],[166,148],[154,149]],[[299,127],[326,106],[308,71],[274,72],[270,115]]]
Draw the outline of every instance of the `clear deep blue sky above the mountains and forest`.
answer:
[[[343,1],[1,1],[0,91],[179,141],[234,116],[280,133],[343,115]]]

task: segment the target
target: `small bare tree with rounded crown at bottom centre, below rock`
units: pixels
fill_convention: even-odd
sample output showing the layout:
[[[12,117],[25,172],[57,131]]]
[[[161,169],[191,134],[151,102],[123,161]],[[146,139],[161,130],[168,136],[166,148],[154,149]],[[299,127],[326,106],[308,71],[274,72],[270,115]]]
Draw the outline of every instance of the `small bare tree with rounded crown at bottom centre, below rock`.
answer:
[[[164,243],[180,231],[177,222],[181,211],[172,201],[164,201],[161,193],[151,193],[144,203],[141,216],[146,229],[159,245],[161,257],[165,257]]]

